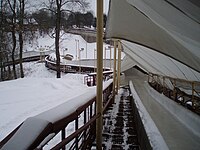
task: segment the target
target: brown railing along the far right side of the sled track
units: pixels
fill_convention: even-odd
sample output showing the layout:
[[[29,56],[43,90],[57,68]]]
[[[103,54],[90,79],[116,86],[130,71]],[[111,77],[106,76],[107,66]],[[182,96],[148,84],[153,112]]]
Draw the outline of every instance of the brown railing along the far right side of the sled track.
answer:
[[[158,92],[200,114],[200,82],[149,73],[148,82]]]

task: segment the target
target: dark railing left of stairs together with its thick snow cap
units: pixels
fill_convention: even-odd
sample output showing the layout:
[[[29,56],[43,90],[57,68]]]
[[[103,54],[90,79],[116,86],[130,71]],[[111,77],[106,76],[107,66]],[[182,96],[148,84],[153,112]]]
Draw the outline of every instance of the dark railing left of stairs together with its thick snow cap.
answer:
[[[103,89],[105,110],[113,102],[112,80],[105,82]],[[95,139],[95,120],[99,117],[95,113],[95,102],[96,88],[92,87],[85,94],[26,119],[0,142],[0,148],[42,149],[50,146],[53,149],[86,149]],[[71,123],[74,124],[75,131],[69,134],[67,127]]]

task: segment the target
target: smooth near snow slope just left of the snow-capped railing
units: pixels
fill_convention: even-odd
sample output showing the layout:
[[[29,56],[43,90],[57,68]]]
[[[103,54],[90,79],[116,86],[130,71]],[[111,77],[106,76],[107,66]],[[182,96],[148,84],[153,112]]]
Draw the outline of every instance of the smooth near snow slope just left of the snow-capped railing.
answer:
[[[49,110],[81,95],[88,87],[84,75],[66,74],[55,78],[55,72],[43,63],[25,63],[25,78],[0,82],[0,140],[26,118]]]

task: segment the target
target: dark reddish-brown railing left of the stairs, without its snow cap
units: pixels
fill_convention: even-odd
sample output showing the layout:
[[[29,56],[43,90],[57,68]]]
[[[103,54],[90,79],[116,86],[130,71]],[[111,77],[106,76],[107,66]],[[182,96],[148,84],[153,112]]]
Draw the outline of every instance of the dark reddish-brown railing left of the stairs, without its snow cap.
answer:
[[[113,103],[112,86],[113,84],[110,83],[103,91],[103,112]],[[100,114],[96,114],[96,97],[93,97],[85,104],[78,107],[70,115],[63,117],[54,123],[48,123],[42,132],[39,133],[25,149],[43,149],[45,146],[51,145],[49,143],[52,142],[56,136],[60,137],[60,141],[57,141],[56,144],[54,143],[50,147],[52,150],[88,149],[95,140],[95,121],[99,116]],[[15,133],[23,126],[23,123],[0,142],[0,148],[4,148],[11,138],[13,141]],[[75,127],[74,131],[70,133],[67,130],[69,124],[73,124]],[[30,126],[30,129],[31,128],[33,127]]]

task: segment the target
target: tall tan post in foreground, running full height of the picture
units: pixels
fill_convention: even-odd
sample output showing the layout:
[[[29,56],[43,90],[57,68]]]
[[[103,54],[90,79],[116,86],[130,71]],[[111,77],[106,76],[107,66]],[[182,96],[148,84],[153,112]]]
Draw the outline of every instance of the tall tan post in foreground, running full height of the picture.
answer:
[[[102,93],[103,93],[103,0],[97,0],[97,100],[96,114],[100,117],[96,121],[97,150],[102,150]]]

